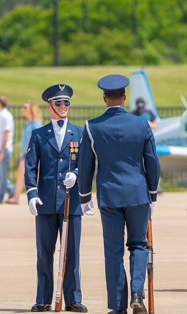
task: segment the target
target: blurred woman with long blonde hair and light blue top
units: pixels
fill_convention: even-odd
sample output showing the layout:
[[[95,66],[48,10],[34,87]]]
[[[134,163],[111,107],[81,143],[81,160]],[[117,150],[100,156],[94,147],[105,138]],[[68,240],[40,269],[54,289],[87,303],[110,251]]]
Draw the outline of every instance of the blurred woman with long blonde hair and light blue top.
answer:
[[[9,204],[18,204],[19,196],[24,187],[24,158],[28,148],[31,132],[34,129],[38,129],[43,126],[42,116],[39,106],[30,100],[26,101],[22,108],[23,116],[26,117],[27,122],[22,131],[22,153],[19,158],[19,164],[17,169],[17,179],[15,184],[15,193],[6,200]]]

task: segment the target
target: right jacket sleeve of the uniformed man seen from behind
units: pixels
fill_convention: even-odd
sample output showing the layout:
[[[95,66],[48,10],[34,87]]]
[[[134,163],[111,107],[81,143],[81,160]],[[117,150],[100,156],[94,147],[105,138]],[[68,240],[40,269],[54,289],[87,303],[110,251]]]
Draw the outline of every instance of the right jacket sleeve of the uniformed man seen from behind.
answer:
[[[156,152],[154,135],[148,123],[144,140],[143,161],[149,193],[152,202],[154,202],[157,200],[157,188],[161,167]]]

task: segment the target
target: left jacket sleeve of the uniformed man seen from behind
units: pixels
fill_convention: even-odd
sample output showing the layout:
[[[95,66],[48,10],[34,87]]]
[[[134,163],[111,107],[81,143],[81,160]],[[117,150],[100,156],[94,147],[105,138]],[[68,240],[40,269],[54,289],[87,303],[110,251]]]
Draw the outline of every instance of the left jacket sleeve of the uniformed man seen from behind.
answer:
[[[95,171],[95,153],[85,127],[78,159],[78,186],[81,204],[92,199],[92,184]]]

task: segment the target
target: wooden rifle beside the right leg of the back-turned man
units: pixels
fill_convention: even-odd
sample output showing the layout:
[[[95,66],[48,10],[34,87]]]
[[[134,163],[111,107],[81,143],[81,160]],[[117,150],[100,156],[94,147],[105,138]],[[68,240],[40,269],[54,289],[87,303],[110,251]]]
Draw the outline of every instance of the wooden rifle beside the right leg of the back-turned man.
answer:
[[[148,308],[149,314],[154,314],[154,295],[153,295],[153,239],[152,239],[152,220],[149,214],[147,228],[147,274],[148,274]]]

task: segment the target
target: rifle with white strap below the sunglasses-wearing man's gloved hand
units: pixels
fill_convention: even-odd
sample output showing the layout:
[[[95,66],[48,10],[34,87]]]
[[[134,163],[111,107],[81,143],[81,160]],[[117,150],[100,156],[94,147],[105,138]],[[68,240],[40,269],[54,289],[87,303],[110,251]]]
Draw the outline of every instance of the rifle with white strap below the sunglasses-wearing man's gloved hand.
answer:
[[[56,292],[56,300],[55,300],[55,312],[60,312],[62,310],[62,298],[63,298],[63,283],[64,283],[64,275],[66,270],[66,258],[67,258],[67,244],[68,244],[68,222],[69,222],[69,207],[70,207],[70,194],[69,188],[66,189],[66,198],[65,198],[65,207],[64,207],[64,218],[62,224],[62,230],[66,229],[65,235],[62,233],[61,238],[61,247],[60,247],[60,258],[59,258],[59,272],[58,272],[58,284],[61,285],[60,295],[58,292],[58,284],[57,284],[57,292]],[[63,236],[65,237],[63,239]],[[64,252],[64,256],[61,254]],[[61,259],[63,258],[63,268],[61,271]]]

